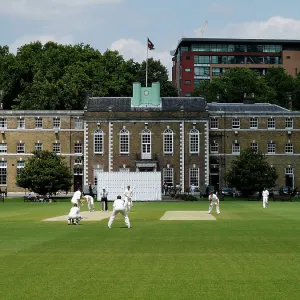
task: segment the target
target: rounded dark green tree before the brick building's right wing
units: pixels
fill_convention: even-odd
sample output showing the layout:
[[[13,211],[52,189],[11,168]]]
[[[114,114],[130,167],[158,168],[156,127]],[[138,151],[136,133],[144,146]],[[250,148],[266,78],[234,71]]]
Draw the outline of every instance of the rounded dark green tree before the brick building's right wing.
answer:
[[[274,187],[278,175],[261,152],[248,148],[232,162],[225,178],[230,186],[237,188],[244,195],[249,195],[263,188]]]

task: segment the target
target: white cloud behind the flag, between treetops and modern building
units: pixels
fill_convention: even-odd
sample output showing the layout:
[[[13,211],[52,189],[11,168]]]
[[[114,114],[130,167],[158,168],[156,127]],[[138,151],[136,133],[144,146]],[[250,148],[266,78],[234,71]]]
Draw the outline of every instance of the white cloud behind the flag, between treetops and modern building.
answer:
[[[154,44],[154,46],[156,46]],[[125,59],[133,58],[137,62],[142,62],[147,58],[147,43],[142,43],[134,39],[120,39],[113,42],[110,46],[111,50],[117,50],[124,56]],[[173,48],[170,48],[173,49]],[[172,57],[170,49],[166,51],[152,50],[148,51],[149,58],[153,57],[155,60],[160,60],[161,63],[168,68],[169,77],[171,76]]]

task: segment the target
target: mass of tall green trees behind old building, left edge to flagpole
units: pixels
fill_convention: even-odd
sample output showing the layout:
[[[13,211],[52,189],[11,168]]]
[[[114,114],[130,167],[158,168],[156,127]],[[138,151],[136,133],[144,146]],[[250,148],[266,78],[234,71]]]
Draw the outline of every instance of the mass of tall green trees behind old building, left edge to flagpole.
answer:
[[[34,42],[18,49],[0,47],[0,90],[4,109],[83,109],[84,95],[131,97],[132,84],[145,84],[145,62],[126,61],[117,51],[100,53],[89,45]],[[168,72],[149,59],[149,84],[161,83],[162,96],[177,96]]]

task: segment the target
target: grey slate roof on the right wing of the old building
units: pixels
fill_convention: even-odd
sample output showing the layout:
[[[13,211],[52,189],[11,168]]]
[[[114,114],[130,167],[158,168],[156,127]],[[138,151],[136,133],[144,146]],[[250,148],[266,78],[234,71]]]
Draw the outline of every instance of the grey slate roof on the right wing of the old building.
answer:
[[[255,114],[289,114],[292,111],[270,103],[207,103],[207,109],[212,113],[255,113]]]

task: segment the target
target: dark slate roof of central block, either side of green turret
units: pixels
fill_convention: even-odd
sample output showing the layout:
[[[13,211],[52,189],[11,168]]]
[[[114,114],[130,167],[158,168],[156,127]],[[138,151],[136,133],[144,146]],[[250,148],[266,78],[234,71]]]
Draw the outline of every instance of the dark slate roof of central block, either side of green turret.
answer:
[[[131,108],[130,97],[92,97],[89,98],[87,111],[140,111],[140,110],[160,110],[160,111],[206,111],[206,102],[202,97],[162,97],[162,105],[158,108]]]

